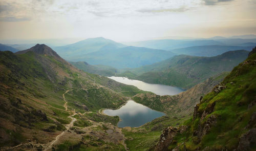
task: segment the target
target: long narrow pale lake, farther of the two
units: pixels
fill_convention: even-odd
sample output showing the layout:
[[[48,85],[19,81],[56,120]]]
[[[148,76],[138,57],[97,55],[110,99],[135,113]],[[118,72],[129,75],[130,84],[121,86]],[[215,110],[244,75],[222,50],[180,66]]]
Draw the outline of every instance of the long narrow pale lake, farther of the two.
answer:
[[[120,82],[120,83],[134,85],[135,87],[137,87],[140,90],[150,91],[157,95],[176,95],[176,94],[179,94],[180,92],[185,91],[178,87],[172,87],[172,86],[163,85],[163,84],[150,84],[150,83],[142,82],[139,80],[128,79],[125,77],[112,76],[109,78],[113,79],[117,82]]]

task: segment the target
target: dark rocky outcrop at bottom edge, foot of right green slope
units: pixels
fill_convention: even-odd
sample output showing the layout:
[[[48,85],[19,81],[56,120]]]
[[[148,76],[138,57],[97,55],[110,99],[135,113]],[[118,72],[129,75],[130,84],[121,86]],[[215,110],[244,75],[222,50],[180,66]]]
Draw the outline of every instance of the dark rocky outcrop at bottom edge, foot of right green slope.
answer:
[[[164,151],[168,150],[168,146],[170,143],[172,143],[173,138],[176,136],[178,133],[178,128],[176,127],[166,127],[163,130],[163,133],[160,136],[160,140],[155,148],[155,151]]]

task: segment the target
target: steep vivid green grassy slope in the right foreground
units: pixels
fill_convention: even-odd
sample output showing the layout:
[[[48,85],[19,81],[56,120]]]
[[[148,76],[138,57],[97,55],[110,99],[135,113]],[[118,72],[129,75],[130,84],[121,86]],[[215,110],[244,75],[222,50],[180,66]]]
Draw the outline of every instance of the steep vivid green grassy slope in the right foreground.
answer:
[[[197,147],[200,149],[209,147],[211,150],[237,148],[239,138],[251,128],[255,128],[255,121],[250,121],[256,111],[255,59],[256,53],[232,70],[221,83],[226,86],[226,89],[219,93],[213,91],[204,96],[201,103],[197,105],[195,119],[191,118],[184,123],[188,126],[187,131],[178,133],[169,146],[170,150],[182,143],[189,150],[196,150]],[[210,106],[214,103],[213,112],[209,112]],[[202,116],[204,111],[209,112],[205,117]],[[210,125],[210,130],[200,138],[195,132],[200,127],[204,127],[211,116],[216,117],[216,123]],[[181,150],[184,150],[184,145],[180,146]]]

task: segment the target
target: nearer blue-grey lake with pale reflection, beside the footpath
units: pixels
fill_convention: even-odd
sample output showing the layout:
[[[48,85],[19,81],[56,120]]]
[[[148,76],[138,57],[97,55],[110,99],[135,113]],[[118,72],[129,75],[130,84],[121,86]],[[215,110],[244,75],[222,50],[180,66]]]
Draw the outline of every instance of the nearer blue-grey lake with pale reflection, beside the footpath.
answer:
[[[119,116],[121,121],[118,122],[118,127],[138,127],[155,118],[165,115],[162,112],[152,110],[133,100],[127,101],[127,103],[121,106],[118,110],[108,109],[103,110],[103,113],[109,116]]]

